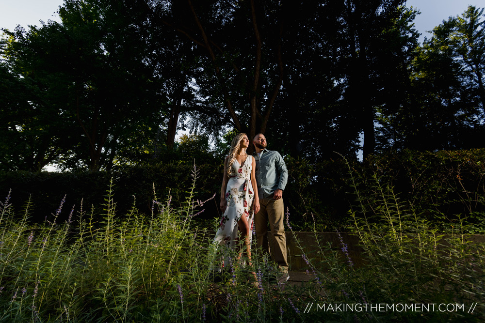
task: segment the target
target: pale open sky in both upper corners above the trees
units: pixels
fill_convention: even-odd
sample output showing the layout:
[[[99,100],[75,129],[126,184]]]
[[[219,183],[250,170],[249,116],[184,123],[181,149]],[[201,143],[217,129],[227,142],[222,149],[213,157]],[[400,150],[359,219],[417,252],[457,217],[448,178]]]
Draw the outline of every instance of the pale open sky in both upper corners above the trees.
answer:
[[[39,20],[59,20],[55,14],[63,0],[0,0],[0,28],[13,31],[17,24],[27,28],[28,25],[39,26]],[[463,13],[469,4],[484,8],[485,0],[407,0],[407,6],[420,10],[415,19],[416,29],[424,36],[430,37],[426,31],[447,20],[450,16]]]

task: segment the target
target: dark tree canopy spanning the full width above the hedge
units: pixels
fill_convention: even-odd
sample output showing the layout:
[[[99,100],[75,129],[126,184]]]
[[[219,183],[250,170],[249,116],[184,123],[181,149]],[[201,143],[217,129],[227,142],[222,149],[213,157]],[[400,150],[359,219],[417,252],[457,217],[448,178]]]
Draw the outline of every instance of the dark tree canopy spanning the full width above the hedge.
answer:
[[[484,147],[484,9],[423,44],[418,14],[404,0],[65,0],[60,23],[4,30],[0,170],[160,160],[181,128],[203,135],[184,149],[263,132],[309,161]]]

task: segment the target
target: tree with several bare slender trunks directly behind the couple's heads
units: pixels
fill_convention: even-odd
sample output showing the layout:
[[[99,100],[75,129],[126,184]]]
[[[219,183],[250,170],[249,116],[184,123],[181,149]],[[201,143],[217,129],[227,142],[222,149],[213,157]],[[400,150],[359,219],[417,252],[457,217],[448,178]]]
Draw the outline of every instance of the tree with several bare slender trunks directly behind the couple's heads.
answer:
[[[166,4],[166,3],[164,3]],[[264,132],[283,80],[281,39],[286,4],[273,1],[170,1],[163,22],[204,53],[201,93],[219,95],[211,121]],[[178,16],[191,17],[180,21]],[[244,108],[246,107],[246,108]],[[217,113],[216,110],[220,112]],[[222,114],[222,118],[218,116]]]

